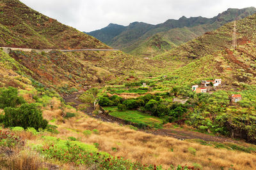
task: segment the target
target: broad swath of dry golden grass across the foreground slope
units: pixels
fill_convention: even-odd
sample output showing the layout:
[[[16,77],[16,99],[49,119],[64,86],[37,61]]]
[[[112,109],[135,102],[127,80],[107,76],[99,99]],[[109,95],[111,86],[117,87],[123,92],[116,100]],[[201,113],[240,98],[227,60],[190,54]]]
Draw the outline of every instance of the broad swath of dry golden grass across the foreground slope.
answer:
[[[80,114],[83,114],[80,112]],[[55,114],[58,115],[58,114]],[[97,129],[99,134],[84,136],[84,130]],[[256,155],[230,151],[198,143],[179,141],[178,139],[155,136],[118,124],[100,122],[94,118],[80,115],[70,118],[65,124],[58,125],[58,138],[69,136],[81,138],[84,143],[99,143],[99,150],[111,155],[121,156],[143,164],[161,164],[164,168],[177,165],[192,166],[200,164],[204,169],[255,169]],[[188,152],[188,148],[196,150],[196,155]],[[116,148],[113,150],[112,148]],[[173,150],[173,152],[172,152]]]

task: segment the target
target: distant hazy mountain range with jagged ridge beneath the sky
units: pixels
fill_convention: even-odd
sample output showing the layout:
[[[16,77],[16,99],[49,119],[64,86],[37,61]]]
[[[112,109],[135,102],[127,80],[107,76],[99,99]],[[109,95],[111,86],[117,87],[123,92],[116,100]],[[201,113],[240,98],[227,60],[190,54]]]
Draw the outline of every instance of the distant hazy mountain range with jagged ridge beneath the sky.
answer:
[[[232,20],[247,17],[255,12],[256,9],[253,7],[241,10],[230,8],[213,18],[186,18],[183,16],[179,18],[179,20],[170,19],[163,24],[157,25],[134,22],[125,27],[125,29],[122,27],[120,34],[112,39],[109,37],[107,40],[102,39],[102,37],[108,35],[108,31],[111,30],[111,25],[98,31],[88,32],[88,34],[124,52],[147,57],[151,55],[152,46],[154,55],[158,55],[159,53],[172,49],[173,46],[195,39],[205,32],[214,31],[214,29],[217,29],[221,25],[227,24]],[[113,28],[113,31],[114,30],[115,28]],[[152,40],[156,36],[164,40],[162,41],[163,44]],[[157,45],[154,45],[154,43]],[[167,46],[166,43],[168,44]]]

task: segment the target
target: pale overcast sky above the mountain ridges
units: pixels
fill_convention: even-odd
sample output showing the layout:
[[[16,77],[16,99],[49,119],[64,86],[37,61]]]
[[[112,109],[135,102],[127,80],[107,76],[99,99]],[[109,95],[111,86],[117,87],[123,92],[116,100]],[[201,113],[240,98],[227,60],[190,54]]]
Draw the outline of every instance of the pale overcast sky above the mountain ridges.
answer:
[[[48,17],[90,32],[108,24],[160,24],[185,17],[211,18],[228,8],[256,8],[255,0],[20,0]]]

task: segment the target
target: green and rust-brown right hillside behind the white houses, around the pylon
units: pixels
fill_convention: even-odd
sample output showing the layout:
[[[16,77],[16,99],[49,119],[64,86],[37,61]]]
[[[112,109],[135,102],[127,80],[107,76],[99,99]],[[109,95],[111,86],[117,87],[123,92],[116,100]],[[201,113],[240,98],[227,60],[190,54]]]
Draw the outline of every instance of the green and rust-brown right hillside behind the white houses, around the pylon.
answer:
[[[237,22],[237,49],[232,50],[233,23],[220,27],[193,41],[157,56],[159,60],[180,60],[188,65],[172,75],[193,81],[204,77],[221,77],[232,81],[255,81],[256,15]]]

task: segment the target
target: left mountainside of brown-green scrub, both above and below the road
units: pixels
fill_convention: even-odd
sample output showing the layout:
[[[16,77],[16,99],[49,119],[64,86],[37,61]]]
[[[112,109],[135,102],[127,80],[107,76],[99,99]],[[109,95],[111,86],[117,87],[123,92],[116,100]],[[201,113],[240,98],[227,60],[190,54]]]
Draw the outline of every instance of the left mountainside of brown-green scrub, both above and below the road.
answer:
[[[17,0],[1,0],[0,15],[0,46],[109,48],[92,36],[46,17]],[[127,74],[150,73],[157,64],[124,52],[65,53],[56,50],[49,53],[11,51],[6,54],[3,49],[0,52],[0,64],[4,66],[0,67],[0,86],[10,85],[6,80],[14,81],[16,76],[24,76],[61,93],[84,90],[89,85],[125,78]],[[17,81],[15,86],[22,85]]]

